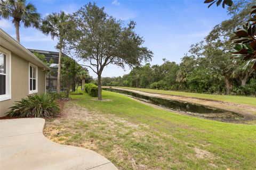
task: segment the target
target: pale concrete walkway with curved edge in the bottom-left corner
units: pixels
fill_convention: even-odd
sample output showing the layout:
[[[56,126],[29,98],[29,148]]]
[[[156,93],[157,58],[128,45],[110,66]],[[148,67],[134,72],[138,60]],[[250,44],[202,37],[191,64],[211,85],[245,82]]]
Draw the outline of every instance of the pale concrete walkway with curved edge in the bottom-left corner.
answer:
[[[59,145],[43,135],[43,118],[0,120],[0,169],[117,169],[94,151]]]

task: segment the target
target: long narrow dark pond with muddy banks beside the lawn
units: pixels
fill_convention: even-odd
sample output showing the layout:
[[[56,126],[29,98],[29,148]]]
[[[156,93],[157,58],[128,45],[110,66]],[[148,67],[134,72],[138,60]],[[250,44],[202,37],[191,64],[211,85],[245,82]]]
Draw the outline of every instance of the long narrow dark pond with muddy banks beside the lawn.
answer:
[[[180,113],[185,113],[189,115],[210,118],[217,121],[233,122],[244,120],[244,116],[238,113],[225,111],[222,109],[217,109],[213,107],[207,107],[203,105],[188,103],[185,101],[171,100],[157,97],[150,97],[146,95],[137,94],[135,92],[113,89],[113,88],[103,88],[103,90],[117,92],[119,94],[124,94],[129,97],[133,97],[138,100],[145,101],[150,104],[161,106],[173,111],[178,111]]]

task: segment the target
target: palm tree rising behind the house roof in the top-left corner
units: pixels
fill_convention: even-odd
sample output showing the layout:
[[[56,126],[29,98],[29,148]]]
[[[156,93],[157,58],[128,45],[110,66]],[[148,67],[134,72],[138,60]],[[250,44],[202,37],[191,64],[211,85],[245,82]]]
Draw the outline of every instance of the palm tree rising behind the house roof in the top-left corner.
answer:
[[[40,14],[37,13],[36,7],[26,0],[1,0],[0,18],[12,18],[12,23],[16,29],[16,40],[20,43],[20,22],[25,27],[39,27]]]

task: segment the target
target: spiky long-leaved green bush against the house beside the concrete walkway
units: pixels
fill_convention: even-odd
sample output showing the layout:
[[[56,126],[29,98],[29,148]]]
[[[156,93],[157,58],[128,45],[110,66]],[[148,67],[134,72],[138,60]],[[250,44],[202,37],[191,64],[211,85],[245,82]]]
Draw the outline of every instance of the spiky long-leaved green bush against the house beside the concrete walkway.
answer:
[[[60,113],[56,98],[57,96],[45,93],[27,96],[21,101],[16,101],[6,116],[54,117]]]

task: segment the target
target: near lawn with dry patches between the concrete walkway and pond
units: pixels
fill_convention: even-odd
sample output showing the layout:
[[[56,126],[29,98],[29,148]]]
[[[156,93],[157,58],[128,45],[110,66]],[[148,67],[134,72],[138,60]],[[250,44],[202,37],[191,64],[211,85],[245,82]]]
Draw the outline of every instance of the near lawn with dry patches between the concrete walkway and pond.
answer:
[[[89,148],[118,169],[256,169],[256,126],[156,109],[103,91],[106,101],[70,95],[66,114],[47,120],[55,142]]]

